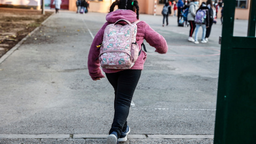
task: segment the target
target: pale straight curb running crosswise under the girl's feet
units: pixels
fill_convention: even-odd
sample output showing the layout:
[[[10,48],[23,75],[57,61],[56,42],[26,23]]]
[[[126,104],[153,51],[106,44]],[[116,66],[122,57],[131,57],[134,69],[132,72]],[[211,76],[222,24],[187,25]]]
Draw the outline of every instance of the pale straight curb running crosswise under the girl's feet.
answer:
[[[0,139],[106,139],[108,134],[0,134]],[[129,134],[129,139],[213,139],[214,135]]]

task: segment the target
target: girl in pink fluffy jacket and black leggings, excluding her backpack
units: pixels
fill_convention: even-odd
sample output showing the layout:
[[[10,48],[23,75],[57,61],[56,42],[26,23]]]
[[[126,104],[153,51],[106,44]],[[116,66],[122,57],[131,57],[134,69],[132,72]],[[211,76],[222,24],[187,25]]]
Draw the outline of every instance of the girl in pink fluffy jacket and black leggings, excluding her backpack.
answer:
[[[116,5],[118,6],[118,10],[114,11],[114,7]],[[105,77],[101,73],[100,61],[97,59],[100,54],[100,51],[97,50],[97,45],[102,43],[103,35],[107,35],[104,32],[105,28],[109,24],[115,23],[117,20],[121,19],[128,20],[131,23],[139,20],[139,5],[137,0],[116,0],[110,6],[110,13],[106,16],[107,22],[98,31],[97,35],[95,35],[88,56],[89,74],[94,81]],[[122,21],[122,24],[126,25],[126,22]],[[115,33],[115,31],[113,31],[113,33]],[[168,50],[164,37],[150,28],[145,21],[139,21],[137,23],[136,35],[136,43],[139,45],[139,51],[141,50],[143,39],[146,39],[149,45],[154,46],[158,53],[166,53]],[[113,45],[115,46],[116,44]],[[127,140],[126,136],[130,133],[130,127],[127,125],[126,119],[129,115],[133,93],[138,84],[146,58],[147,54],[144,51],[141,51],[137,61],[135,61],[134,65],[130,69],[122,70],[102,68],[109,83],[113,86],[115,91],[115,113],[113,123],[107,137],[107,144],[116,144],[118,141]]]

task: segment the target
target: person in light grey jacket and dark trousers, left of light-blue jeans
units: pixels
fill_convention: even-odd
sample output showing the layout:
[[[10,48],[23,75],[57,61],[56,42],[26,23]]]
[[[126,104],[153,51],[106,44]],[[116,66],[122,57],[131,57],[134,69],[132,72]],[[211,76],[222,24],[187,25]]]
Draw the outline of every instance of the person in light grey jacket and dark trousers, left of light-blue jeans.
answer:
[[[199,7],[198,0],[194,0],[189,3],[189,11],[188,11],[188,22],[190,26],[189,37],[188,37],[189,42],[195,42],[195,39],[192,36],[196,28],[195,17],[196,17],[196,10],[198,9],[198,7]]]

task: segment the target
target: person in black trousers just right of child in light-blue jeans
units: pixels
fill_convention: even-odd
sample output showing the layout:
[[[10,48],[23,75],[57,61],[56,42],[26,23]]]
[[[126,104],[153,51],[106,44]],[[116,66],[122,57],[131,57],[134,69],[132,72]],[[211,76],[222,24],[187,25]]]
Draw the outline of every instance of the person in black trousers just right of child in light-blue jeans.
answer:
[[[216,17],[216,12],[215,12],[215,7],[213,6],[212,0],[207,0],[206,1],[206,5],[209,9],[209,27],[206,28],[206,34],[205,34],[205,41],[208,42],[208,38],[211,34],[211,29],[212,29],[212,24],[213,24],[213,20]]]

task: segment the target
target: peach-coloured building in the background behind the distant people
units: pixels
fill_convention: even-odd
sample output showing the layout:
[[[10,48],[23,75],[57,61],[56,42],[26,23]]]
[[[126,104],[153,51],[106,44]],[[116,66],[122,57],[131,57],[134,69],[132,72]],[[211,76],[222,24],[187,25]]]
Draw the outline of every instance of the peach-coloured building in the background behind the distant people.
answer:
[[[61,9],[69,11],[76,11],[77,0],[62,0]],[[115,0],[90,0],[90,12],[101,12],[108,13],[110,5]],[[140,13],[143,14],[157,14],[161,15],[164,3],[167,0],[138,0]],[[178,1],[178,0],[177,0]],[[236,11],[235,19],[249,19],[249,7],[250,1],[252,0],[236,0]],[[45,0],[45,4],[52,4],[53,0]],[[199,3],[206,2],[206,0],[199,0]],[[36,9],[40,10],[42,0],[1,0],[0,7],[14,7],[14,8],[25,8],[25,9]],[[53,8],[54,6],[51,5]],[[117,6],[116,6],[117,7]],[[218,18],[220,18],[220,11],[218,12]],[[173,14],[172,9],[172,14]]]

